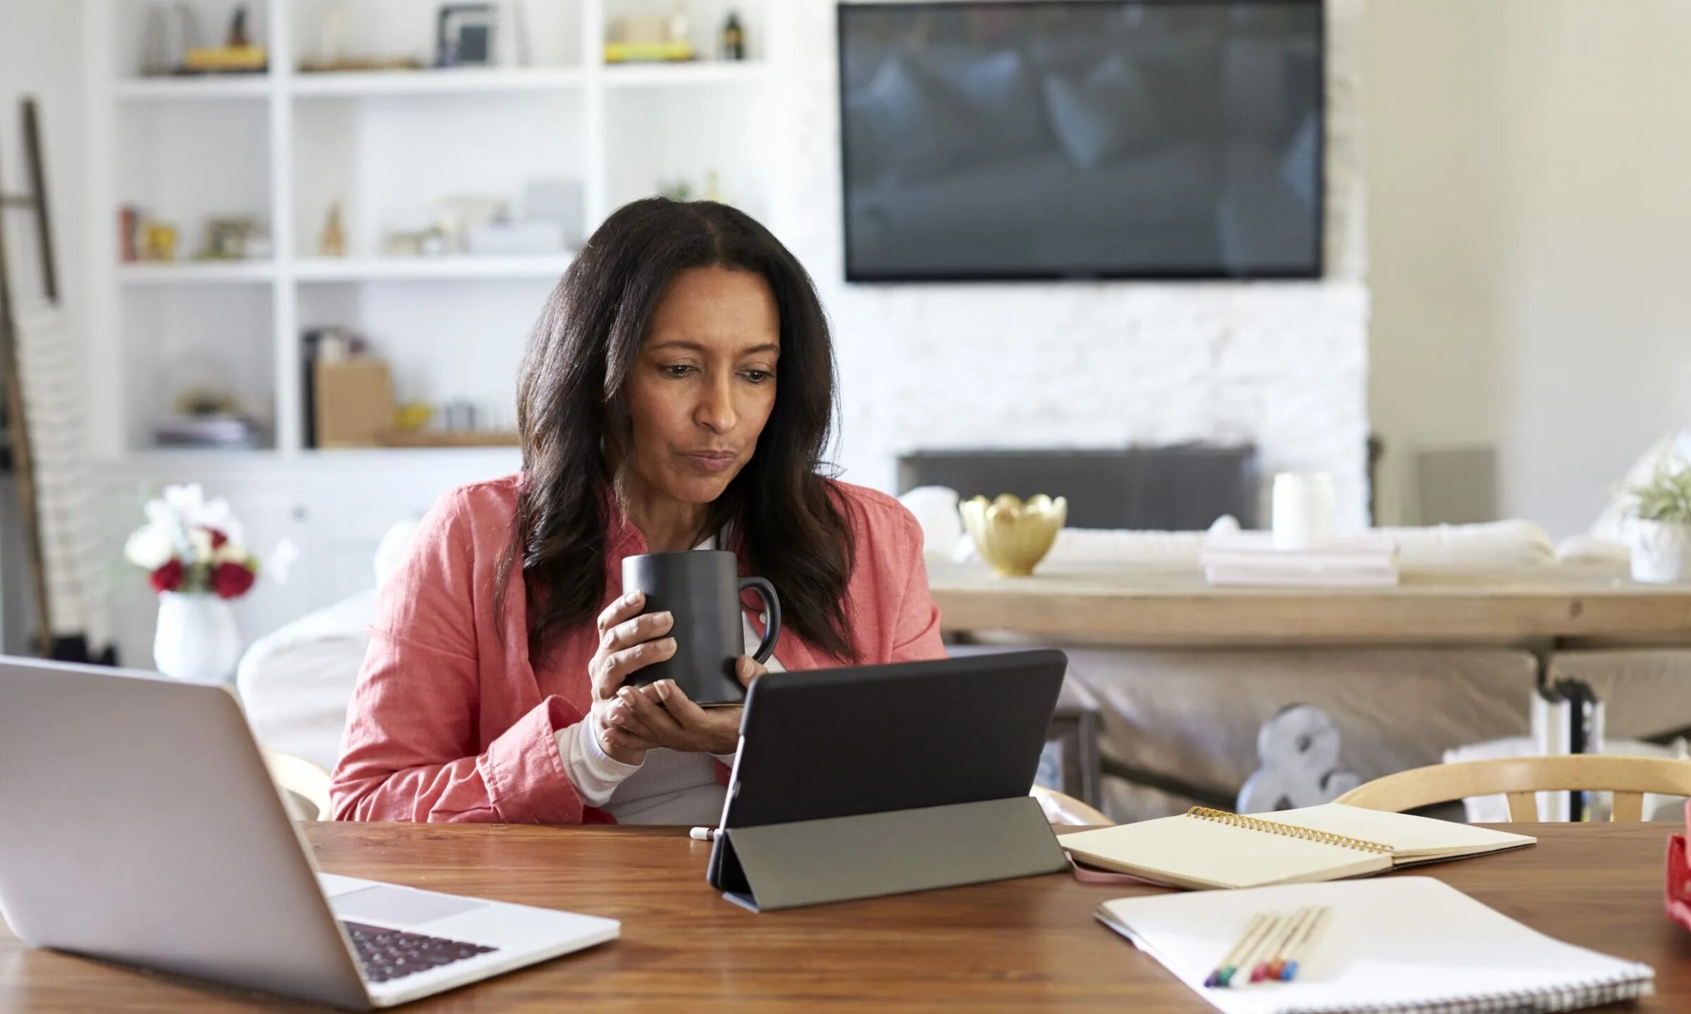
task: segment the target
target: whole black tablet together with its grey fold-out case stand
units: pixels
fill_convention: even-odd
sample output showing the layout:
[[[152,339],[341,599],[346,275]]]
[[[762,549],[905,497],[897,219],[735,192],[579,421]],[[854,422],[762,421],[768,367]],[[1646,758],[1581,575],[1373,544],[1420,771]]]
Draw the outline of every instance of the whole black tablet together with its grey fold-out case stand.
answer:
[[[1037,649],[759,678],[709,882],[774,911],[1067,870],[1026,794],[1065,669]]]

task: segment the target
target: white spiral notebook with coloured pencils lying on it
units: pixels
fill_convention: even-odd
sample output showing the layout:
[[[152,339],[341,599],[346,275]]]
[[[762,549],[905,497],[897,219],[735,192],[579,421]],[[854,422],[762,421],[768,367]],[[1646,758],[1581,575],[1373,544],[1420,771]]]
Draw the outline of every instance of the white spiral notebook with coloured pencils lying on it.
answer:
[[[1297,982],[1206,987],[1260,911],[1331,906]],[[1649,995],[1655,972],[1573,946],[1431,877],[1106,901],[1101,923],[1223,1014],[1579,1011]]]

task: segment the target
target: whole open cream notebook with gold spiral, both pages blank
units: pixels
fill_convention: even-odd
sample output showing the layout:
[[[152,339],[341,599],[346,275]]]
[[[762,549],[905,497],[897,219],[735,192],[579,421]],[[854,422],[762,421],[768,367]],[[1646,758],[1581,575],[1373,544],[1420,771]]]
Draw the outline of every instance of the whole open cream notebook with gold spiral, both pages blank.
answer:
[[[1212,889],[1366,877],[1520,848],[1537,838],[1327,803],[1268,816],[1194,806],[1180,816],[1060,835],[1057,842],[1092,867]]]

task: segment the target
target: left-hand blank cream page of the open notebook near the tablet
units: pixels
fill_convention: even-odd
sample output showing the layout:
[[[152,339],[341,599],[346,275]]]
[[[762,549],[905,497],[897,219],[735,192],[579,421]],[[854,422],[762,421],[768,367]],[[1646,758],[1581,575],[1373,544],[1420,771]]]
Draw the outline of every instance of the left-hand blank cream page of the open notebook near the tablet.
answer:
[[[1060,835],[1077,860],[1177,887],[1255,887],[1336,880],[1392,869],[1392,859],[1341,845],[1248,831],[1196,816],[1163,816]]]

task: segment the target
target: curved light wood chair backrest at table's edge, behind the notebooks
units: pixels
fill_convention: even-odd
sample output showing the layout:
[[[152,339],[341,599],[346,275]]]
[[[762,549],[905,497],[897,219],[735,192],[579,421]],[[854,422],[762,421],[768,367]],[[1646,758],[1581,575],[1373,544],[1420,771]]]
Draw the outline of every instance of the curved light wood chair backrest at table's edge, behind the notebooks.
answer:
[[[1508,757],[1434,764],[1376,777],[1336,803],[1404,813],[1466,796],[1508,796],[1508,820],[1539,820],[1534,793],[1615,793],[1615,821],[1644,820],[1644,793],[1691,796],[1691,760],[1669,757]]]

